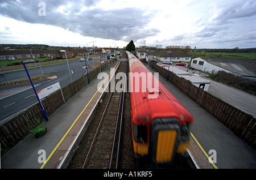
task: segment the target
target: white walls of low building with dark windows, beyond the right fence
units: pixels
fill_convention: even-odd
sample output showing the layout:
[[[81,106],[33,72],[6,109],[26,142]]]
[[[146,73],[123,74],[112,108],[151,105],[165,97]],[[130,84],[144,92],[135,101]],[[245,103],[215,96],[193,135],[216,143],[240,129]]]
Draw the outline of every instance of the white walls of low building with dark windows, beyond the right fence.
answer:
[[[231,72],[231,71],[225,70],[224,68],[208,63],[207,61],[201,58],[192,59],[191,67],[196,68],[197,70],[205,71],[205,72],[218,72],[218,71]]]

